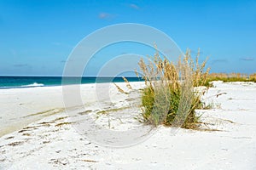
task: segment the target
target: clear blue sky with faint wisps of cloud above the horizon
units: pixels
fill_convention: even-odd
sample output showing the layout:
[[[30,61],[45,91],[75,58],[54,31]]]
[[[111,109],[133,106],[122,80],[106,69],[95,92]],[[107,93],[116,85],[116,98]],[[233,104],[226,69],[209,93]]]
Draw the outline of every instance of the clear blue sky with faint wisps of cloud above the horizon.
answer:
[[[256,72],[256,0],[0,0],[0,76],[61,76],[84,37],[122,23],[163,31],[192,55],[200,48],[211,72]],[[84,75],[96,76],[104,62],[129,53],[154,51],[112,44]]]

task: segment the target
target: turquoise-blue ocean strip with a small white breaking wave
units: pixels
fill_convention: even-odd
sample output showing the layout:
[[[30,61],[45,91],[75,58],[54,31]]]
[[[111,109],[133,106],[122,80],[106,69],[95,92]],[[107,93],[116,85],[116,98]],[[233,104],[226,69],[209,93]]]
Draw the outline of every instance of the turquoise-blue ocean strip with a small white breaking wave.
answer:
[[[126,77],[129,82],[143,81],[138,77]],[[34,88],[44,86],[61,86],[68,84],[85,84],[101,82],[124,82],[122,77],[0,77],[2,88]]]

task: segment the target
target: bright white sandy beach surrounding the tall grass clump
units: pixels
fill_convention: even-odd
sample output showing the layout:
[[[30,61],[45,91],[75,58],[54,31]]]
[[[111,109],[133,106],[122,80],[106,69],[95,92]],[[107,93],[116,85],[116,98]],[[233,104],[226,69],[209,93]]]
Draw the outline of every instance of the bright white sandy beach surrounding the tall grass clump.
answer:
[[[129,94],[97,86],[108,91],[81,85],[83,105],[67,111],[61,87],[0,89],[0,169],[256,169],[256,83],[214,82],[204,96],[211,108],[197,111],[208,130],[160,126],[124,147],[78,126],[90,116],[108,130],[147,128],[136,119],[143,82]]]

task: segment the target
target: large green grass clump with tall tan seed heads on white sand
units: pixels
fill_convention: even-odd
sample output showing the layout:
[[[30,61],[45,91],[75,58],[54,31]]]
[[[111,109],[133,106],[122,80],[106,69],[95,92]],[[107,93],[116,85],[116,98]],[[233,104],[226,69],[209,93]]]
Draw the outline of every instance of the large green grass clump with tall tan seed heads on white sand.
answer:
[[[206,84],[209,69],[206,61],[199,64],[200,52],[195,61],[187,50],[183,59],[176,65],[167,59],[161,59],[156,50],[146,64],[139,61],[146,88],[143,90],[143,119],[149,124],[158,126],[178,126],[184,128],[198,127],[199,116],[195,109],[201,108],[201,95],[204,90],[195,90]]]

